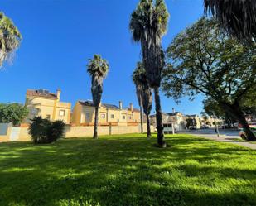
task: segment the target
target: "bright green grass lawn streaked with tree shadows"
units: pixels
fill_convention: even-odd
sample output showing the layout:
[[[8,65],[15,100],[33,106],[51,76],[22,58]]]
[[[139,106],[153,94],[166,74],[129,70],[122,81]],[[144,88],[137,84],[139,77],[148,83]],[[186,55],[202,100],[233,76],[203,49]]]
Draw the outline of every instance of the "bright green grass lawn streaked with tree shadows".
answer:
[[[0,205],[256,205],[256,151],[176,135],[0,144]]]

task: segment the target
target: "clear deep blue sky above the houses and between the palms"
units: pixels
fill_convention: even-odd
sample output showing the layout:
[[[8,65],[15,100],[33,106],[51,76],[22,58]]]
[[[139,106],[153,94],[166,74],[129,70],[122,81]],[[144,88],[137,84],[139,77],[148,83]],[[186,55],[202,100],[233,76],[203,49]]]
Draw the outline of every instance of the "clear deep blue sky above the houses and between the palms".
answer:
[[[166,0],[171,14],[166,49],[172,38],[203,15],[203,0]],[[104,103],[122,100],[138,107],[131,75],[141,59],[140,45],[128,30],[138,0],[1,0],[1,9],[22,33],[12,64],[0,71],[0,102],[25,102],[26,89],[60,88],[61,101],[74,106],[91,99],[87,60],[100,54],[109,61]],[[200,113],[202,97],[176,103],[162,95],[163,112]],[[152,113],[154,111],[152,110]]]

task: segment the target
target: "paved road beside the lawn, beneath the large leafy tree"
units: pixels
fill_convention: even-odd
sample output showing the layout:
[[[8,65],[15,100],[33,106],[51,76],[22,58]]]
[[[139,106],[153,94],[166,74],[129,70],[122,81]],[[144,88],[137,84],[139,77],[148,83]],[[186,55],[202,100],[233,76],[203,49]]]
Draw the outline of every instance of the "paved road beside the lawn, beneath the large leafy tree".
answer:
[[[256,144],[252,144],[245,141],[239,141],[239,130],[222,130],[220,129],[220,137],[217,137],[214,129],[205,129],[205,130],[186,130],[179,133],[183,134],[192,134],[198,137],[204,137],[206,139],[221,141],[221,142],[230,142],[239,146],[246,146],[253,150],[256,150]]]

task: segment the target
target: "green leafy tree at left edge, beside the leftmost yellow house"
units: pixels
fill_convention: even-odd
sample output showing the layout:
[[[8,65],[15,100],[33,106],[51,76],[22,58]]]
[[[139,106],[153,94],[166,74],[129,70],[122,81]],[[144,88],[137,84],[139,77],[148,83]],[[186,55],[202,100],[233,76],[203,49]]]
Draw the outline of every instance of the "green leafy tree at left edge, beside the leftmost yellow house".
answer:
[[[0,123],[12,122],[14,126],[18,126],[27,114],[27,107],[20,103],[0,103]]]

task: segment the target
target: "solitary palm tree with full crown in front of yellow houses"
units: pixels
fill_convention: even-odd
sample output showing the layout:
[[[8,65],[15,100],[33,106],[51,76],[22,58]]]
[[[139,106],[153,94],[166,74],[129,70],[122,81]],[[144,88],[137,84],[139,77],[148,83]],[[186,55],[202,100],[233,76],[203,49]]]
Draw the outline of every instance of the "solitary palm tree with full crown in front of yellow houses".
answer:
[[[99,104],[103,93],[103,80],[109,72],[109,64],[100,55],[94,55],[94,59],[89,59],[87,72],[92,78],[91,92],[95,107],[94,139],[98,139]]]

